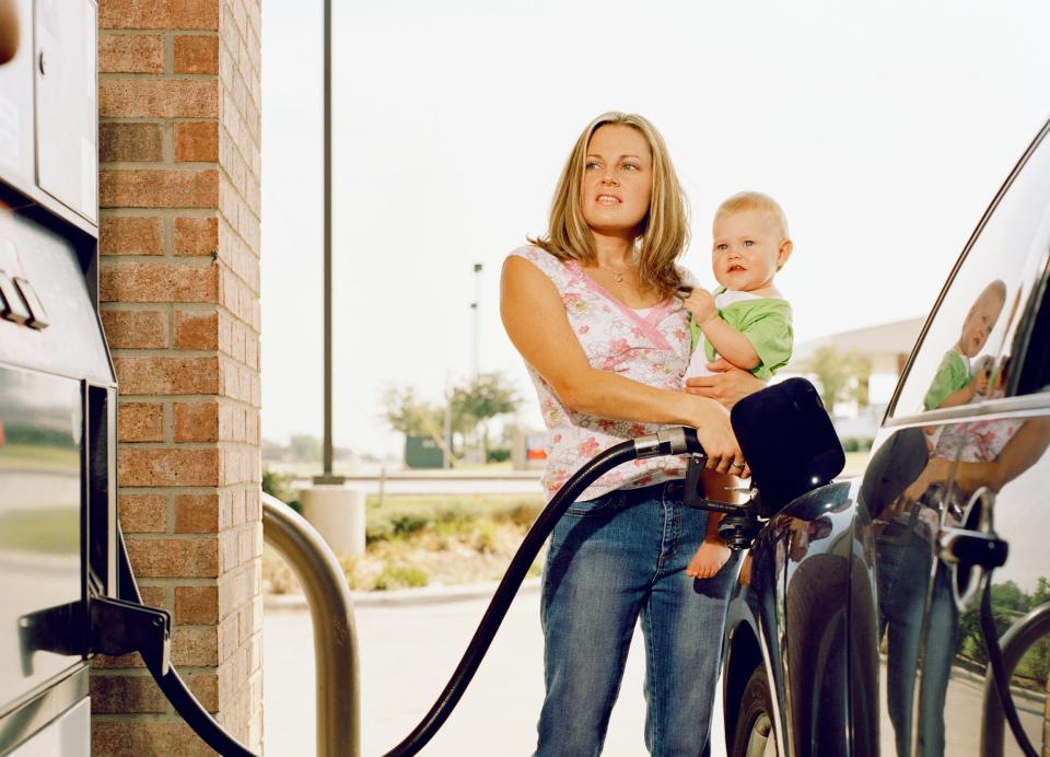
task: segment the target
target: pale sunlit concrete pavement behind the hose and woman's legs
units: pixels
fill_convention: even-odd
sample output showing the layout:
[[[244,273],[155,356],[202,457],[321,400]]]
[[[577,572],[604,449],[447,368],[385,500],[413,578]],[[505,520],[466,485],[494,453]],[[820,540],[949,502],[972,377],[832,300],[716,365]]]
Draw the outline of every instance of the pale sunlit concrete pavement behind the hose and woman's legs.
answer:
[[[423,755],[532,754],[544,698],[538,586],[536,579],[525,582],[475,680]],[[494,589],[495,584],[478,584],[354,595],[362,755],[372,757],[390,749],[430,709]],[[266,753],[316,754],[313,632],[302,599],[267,599],[264,654]],[[605,757],[648,754],[642,736],[643,665],[642,639],[635,631],[620,698],[609,723]],[[720,721],[718,714],[715,722]]]

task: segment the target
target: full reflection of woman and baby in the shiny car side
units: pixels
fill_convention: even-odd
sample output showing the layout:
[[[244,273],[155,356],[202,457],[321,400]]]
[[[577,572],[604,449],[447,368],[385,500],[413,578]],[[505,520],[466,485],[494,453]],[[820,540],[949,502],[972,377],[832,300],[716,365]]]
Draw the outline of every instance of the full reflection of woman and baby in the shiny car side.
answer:
[[[958,341],[945,353],[926,392],[923,409],[965,405],[1001,397],[1008,360],[978,358],[1006,302],[1006,287],[988,284],[967,312]],[[944,754],[944,708],[958,633],[958,608],[948,569],[933,566],[932,540],[941,525],[958,524],[958,511],[945,506],[949,481],[965,501],[981,487],[998,492],[1042,454],[1050,440],[1043,419],[995,419],[926,429],[929,462],[903,494],[880,515],[885,529],[877,539],[879,636],[886,632],[887,708],[897,753],[911,754],[912,699],[921,666],[918,754]],[[928,506],[929,505],[929,506]],[[945,512],[940,512],[944,508]],[[928,579],[934,572],[929,592]],[[919,660],[923,636],[926,644]]]

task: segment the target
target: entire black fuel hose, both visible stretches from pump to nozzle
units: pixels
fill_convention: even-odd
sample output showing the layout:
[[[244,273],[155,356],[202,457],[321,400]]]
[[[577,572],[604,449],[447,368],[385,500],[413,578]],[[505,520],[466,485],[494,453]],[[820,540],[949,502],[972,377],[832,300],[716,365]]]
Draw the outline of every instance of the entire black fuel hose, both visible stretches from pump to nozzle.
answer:
[[[569,509],[569,505],[575,502],[576,498],[591,484],[616,466],[639,457],[685,453],[702,454],[702,452],[696,429],[673,427],[655,434],[639,436],[609,447],[565,481],[536,517],[536,522],[533,523],[528,533],[525,534],[522,546],[517,548],[511,559],[511,564],[508,567],[503,580],[500,581],[500,585],[497,586],[495,594],[493,594],[492,601],[474,633],[474,638],[467,645],[466,652],[464,652],[459,664],[438,701],[434,702],[434,706],[412,732],[400,744],[386,753],[385,757],[406,757],[417,754],[433,738],[438,730],[448,719],[492,644],[492,639],[503,622],[503,618],[506,616],[506,612],[517,595],[517,590],[521,587],[522,581],[525,580],[528,569],[532,567],[533,560],[536,559],[544,541],[553,531],[558,520]],[[131,562],[128,559],[127,546],[119,524],[117,525],[117,536],[120,545],[117,550],[119,597],[126,602],[135,602],[141,605],[142,596],[131,571]],[[167,672],[160,675],[160,665],[156,661],[147,660],[145,662],[147,667],[150,668],[150,673],[156,680],[156,685],[167,697],[172,707],[208,746],[220,755],[256,757],[255,753],[237,742],[211,717],[179,677],[174,666],[168,666]]]

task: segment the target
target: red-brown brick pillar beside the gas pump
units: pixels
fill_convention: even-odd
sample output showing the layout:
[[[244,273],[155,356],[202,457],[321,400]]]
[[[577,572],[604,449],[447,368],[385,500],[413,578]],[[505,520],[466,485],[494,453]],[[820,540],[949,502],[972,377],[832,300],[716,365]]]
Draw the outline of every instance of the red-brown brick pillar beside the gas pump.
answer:
[[[100,299],[120,522],[173,662],[262,738],[260,0],[100,0]],[[211,752],[136,659],[96,663],[97,755]]]

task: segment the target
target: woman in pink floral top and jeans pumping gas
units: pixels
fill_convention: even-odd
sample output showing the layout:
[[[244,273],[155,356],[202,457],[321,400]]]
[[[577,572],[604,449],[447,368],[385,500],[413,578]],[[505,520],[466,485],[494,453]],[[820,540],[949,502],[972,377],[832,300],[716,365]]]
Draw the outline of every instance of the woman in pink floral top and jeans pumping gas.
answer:
[[[681,391],[689,329],[676,293],[689,282],[675,259],[686,236],[660,133],[635,115],[596,118],[559,179],[547,236],[503,267],[503,324],[548,429],[548,497],[603,450],[664,424],[695,427],[709,467],[747,474],[725,408],[702,395],[736,398],[761,384],[733,375]],[[602,750],[639,616],[646,746],[654,755],[705,749],[735,564],[725,567],[730,550],[708,514],[682,506],[684,474],[680,457],[620,466],[556,526],[540,609],[538,755]],[[704,541],[722,570],[693,580],[685,569]]]

